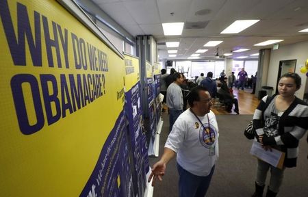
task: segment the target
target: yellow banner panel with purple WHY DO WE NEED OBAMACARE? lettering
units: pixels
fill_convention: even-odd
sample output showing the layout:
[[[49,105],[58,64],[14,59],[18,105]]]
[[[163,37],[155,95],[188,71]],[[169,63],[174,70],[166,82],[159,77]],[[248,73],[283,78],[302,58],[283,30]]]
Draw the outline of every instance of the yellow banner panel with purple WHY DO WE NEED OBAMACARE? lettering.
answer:
[[[123,110],[124,61],[56,1],[1,0],[0,16],[1,196],[79,196]]]

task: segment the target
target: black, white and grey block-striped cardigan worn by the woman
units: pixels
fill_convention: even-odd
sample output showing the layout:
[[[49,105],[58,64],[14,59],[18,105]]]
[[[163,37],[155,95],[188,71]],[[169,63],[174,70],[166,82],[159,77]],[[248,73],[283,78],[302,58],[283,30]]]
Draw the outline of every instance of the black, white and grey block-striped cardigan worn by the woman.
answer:
[[[256,130],[256,138],[258,135],[264,135],[264,119],[266,114],[270,114],[270,109],[266,108],[268,103],[273,102],[275,94],[272,98],[267,99],[265,96],[259,103],[255,114],[253,115],[253,125]],[[267,102],[267,103],[266,103]],[[263,115],[263,117],[262,117]],[[293,103],[283,113],[279,120],[279,133],[277,136],[263,137],[263,144],[270,146],[279,146],[285,153],[285,161],[283,165],[287,168],[296,166],[298,156],[298,142],[308,129],[308,105],[304,101],[294,99]]]

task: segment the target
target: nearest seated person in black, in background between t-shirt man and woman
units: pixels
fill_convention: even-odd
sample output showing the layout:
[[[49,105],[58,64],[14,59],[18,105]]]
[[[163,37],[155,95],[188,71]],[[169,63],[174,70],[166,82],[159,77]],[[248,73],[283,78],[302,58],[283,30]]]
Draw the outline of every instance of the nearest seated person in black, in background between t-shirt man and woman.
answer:
[[[233,108],[234,105],[234,112],[236,114],[240,114],[240,111],[238,109],[238,99],[234,98],[234,95],[231,94],[228,86],[227,86],[227,82],[225,81],[227,80],[227,77],[224,77],[224,81],[222,82],[219,90],[218,90],[218,94],[220,95],[220,99],[223,101],[223,103],[225,105],[227,105],[226,111],[228,111],[229,113],[231,113],[231,109]]]

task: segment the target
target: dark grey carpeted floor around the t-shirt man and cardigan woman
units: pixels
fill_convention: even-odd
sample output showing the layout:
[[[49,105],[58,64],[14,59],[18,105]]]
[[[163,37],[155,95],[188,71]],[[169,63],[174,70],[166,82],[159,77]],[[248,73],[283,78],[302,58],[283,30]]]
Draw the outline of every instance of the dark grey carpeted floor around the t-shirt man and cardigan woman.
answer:
[[[164,125],[159,142],[159,157],[168,136],[168,114],[164,113],[162,118]],[[252,141],[244,137],[243,131],[253,116],[218,115],[216,118],[220,133],[220,153],[207,197],[251,196],[254,192],[257,159],[249,154]],[[283,185],[278,195],[280,197],[308,196],[308,145],[305,137],[300,142],[297,167],[285,170]],[[158,159],[151,157],[151,166]],[[153,196],[178,196],[177,181],[176,159],[172,159],[168,163],[163,181],[155,185]]]

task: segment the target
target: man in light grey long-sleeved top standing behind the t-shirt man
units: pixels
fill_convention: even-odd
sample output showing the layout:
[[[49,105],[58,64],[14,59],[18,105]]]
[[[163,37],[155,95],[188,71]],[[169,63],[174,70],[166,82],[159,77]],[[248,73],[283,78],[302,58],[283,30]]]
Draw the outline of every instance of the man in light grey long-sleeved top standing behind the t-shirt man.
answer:
[[[177,117],[183,112],[183,93],[180,85],[183,83],[183,75],[174,73],[174,81],[167,88],[167,106],[169,110],[169,132]]]

